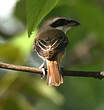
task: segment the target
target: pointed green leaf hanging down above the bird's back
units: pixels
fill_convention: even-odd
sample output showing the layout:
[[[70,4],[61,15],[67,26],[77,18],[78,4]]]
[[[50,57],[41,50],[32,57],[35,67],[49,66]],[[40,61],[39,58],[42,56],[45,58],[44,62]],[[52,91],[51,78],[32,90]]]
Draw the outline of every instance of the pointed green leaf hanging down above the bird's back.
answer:
[[[27,25],[29,37],[40,21],[56,6],[59,0],[27,0]]]

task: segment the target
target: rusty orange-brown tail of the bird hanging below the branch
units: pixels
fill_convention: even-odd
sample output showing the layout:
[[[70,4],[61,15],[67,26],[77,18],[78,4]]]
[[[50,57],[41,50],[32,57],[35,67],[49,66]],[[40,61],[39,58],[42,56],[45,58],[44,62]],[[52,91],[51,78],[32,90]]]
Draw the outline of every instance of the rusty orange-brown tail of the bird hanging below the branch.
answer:
[[[48,61],[48,74],[47,74],[47,84],[49,86],[59,86],[63,83],[62,75],[59,73],[58,64],[56,61]]]

